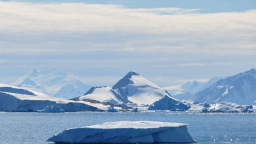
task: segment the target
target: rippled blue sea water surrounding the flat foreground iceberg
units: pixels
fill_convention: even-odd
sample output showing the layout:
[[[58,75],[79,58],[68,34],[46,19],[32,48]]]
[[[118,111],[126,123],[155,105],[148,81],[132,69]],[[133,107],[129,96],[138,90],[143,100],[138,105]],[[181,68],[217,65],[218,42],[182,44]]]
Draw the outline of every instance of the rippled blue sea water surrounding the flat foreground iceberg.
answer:
[[[67,128],[119,120],[187,123],[199,143],[256,143],[255,114],[157,113],[0,113],[0,143],[50,143]]]

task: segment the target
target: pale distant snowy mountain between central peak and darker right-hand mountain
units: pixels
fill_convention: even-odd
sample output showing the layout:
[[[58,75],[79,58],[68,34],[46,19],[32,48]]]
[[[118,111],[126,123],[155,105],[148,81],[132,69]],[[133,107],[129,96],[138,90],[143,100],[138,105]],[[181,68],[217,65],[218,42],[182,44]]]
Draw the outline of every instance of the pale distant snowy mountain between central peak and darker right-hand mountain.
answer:
[[[211,84],[214,84],[224,78],[225,77],[213,77],[212,79],[209,79],[209,81],[188,81],[184,84],[167,86],[163,89],[167,90],[174,98],[186,100],[196,94],[196,92],[200,92],[201,90],[211,86]]]

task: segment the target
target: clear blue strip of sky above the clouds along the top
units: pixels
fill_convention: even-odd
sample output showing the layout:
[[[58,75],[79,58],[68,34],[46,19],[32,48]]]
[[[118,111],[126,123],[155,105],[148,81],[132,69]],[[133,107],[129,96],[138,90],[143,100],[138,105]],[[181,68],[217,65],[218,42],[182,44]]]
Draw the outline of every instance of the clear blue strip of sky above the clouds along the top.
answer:
[[[123,5],[128,8],[158,8],[158,7],[179,7],[182,9],[201,9],[200,12],[234,12],[255,9],[254,0],[66,0],[66,1],[18,1],[33,3],[93,3]]]

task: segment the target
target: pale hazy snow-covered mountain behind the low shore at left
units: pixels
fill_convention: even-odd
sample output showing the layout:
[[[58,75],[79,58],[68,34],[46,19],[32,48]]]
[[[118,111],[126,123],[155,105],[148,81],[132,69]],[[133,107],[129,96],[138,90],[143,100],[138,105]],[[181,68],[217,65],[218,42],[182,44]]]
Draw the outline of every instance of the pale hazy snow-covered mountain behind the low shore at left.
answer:
[[[60,73],[55,70],[38,71],[37,69],[32,69],[12,85],[67,99],[81,96],[91,88],[70,73]]]

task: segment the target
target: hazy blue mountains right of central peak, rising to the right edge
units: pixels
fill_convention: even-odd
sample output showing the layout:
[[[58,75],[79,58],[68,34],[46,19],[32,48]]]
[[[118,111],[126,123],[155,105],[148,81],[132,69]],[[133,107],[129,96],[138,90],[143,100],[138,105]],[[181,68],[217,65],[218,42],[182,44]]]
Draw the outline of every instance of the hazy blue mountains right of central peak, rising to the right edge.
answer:
[[[255,105],[256,69],[250,69],[231,77],[214,77],[207,82],[188,81],[185,84],[168,86],[164,89],[180,100]]]

